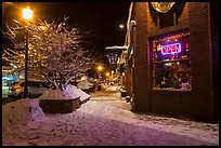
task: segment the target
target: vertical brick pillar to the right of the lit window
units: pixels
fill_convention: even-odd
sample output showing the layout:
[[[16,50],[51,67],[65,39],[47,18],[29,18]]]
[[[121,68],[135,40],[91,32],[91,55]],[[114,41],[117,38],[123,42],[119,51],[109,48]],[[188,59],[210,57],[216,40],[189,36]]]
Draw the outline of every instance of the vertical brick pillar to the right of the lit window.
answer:
[[[211,120],[211,46],[210,46],[209,4],[190,3],[190,48],[193,92],[192,100],[197,106],[195,112],[202,120]]]

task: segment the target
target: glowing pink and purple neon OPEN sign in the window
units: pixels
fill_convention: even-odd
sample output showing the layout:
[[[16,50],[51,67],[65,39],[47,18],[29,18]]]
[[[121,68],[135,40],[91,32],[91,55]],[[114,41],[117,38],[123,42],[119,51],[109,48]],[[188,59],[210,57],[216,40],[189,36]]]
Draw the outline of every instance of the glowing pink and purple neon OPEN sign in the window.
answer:
[[[181,52],[181,43],[172,43],[167,45],[161,45],[161,54],[174,54]]]

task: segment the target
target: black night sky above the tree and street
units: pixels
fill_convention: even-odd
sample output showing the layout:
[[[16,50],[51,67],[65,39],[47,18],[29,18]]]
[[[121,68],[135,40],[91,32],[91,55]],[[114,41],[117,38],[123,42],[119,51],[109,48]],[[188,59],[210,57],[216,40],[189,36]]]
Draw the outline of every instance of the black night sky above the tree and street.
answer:
[[[106,46],[125,43],[126,28],[120,29],[119,24],[127,23],[130,2],[3,2],[2,23],[22,19],[22,9],[27,5],[34,18],[48,23],[58,24],[69,16],[68,26],[89,32],[93,50],[105,59]]]

